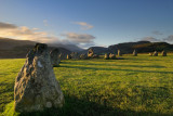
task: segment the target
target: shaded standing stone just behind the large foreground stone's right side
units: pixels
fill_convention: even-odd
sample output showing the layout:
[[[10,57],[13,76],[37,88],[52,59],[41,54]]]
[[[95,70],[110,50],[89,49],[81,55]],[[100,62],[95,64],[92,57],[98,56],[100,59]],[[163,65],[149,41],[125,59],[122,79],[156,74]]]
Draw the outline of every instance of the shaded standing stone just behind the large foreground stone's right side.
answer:
[[[52,50],[50,55],[51,55],[51,63],[52,63],[53,67],[59,66],[59,62],[61,62],[59,50],[58,49]]]

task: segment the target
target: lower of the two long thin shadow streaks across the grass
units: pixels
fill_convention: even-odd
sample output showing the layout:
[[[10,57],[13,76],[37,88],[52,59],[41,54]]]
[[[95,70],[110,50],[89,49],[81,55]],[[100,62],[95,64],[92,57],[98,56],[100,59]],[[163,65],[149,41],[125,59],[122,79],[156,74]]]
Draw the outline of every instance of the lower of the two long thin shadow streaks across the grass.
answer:
[[[122,66],[122,65],[121,65]],[[96,68],[96,67],[83,67],[83,66],[61,66],[67,68],[79,68],[79,69],[93,69],[93,70],[124,70],[124,72],[136,72],[136,73],[163,73],[173,74],[173,72],[157,72],[157,70],[134,70],[134,69],[118,69],[118,68]],[[127,66],[125,66],[127,67]]]

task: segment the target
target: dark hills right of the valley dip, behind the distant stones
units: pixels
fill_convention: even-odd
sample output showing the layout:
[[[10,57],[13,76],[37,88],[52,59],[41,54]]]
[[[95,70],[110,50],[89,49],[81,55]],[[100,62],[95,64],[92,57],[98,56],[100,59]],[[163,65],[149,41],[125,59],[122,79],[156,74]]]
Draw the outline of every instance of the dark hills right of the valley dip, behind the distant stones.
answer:
[[[120,50],[123,54],[132,53],[133,50],[136,50],[138,53],[148,53],[158,51],[161,52],[163,50],[168,52],[173,51],[173,44],[167,42],[149,42],[149,41],[137,41],[137,42],[123,42],[118,44],[109,46],[108,48],[103,47],[91,47],[89,49],[93,49],[96,54],[104,53],[116,53]],[[88,50],[89,50],[88,49]],[[86,53],[88,50],[82,51],[82,53]]]

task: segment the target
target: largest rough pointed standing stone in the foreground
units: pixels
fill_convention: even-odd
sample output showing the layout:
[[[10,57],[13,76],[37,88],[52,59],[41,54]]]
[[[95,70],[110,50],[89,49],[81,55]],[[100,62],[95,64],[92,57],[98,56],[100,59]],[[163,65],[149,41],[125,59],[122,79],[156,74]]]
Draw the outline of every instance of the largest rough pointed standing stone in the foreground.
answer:
[[[15,79],[15,112],[37,112],[62,107],[64,95],[55,79],[48,46],[37,43]]]

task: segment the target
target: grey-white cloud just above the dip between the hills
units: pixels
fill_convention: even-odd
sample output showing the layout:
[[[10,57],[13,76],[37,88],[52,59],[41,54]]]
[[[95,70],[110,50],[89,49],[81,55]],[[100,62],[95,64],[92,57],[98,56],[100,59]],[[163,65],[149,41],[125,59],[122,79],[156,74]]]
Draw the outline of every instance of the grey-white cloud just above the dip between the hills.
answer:
[[[66,37],[66,39],[76,43],[92,43],[95,39],[94,36],[88,34],[67,33],[62,34],[62,36]]]

